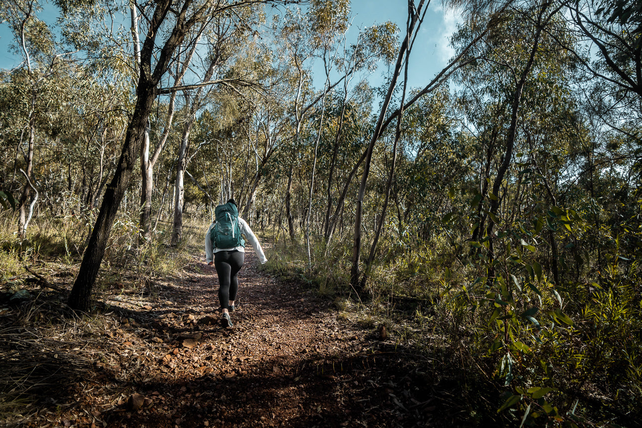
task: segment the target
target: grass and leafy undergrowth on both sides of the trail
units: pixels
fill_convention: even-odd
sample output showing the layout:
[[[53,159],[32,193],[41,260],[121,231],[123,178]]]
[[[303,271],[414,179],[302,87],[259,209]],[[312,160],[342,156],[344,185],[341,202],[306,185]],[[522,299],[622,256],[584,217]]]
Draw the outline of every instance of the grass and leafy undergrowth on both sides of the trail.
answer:
[[[97,304],[107,290],[153,296],[155,280],[181,270],[191,255],[202,253],[204,224],[187,226],[181,246],[168,252],[162,232],[137,246],[136,223],[127,218],[117,222],[110,238],[94,290]],[[37,292],[34,287],[64,291],[71,286],[89,221],[57,218],[35,223],[28,239],[19,241],[5,217],[0,250],[3,299],[19,305],[30,301],[30,293]],[[494,293],[480,275],[483,261],[461,257],[458,246],[438,239],[413,247],[384,243],[365,289],[356,293],[347,285],[350,261],[345,244],[314,246],[309,264],[304,245],[284,241],[270,229],[259,234],[270,243],[268,272],[306,284],[334,303],[340,319],[378,330],[394,341],[390,352],[406,358],[417,373],[429,373],[441,390],[453,391],[453,407],[471,426],[638,425],[640,289],[638,278],[618,270],[617,257],[611,259],[604,284],[554,288],[536,269],[533,281],[519,292],[508,293],[510,286],[499,281]],[[62,288],[46,277],[56,278]],[[64,301],[47,304],[65,307]],[[53,322],[46,306],[32,305],[24,314],[42,323],[39,329],[3,331],[3,365],[15,365],[20,357],[38,361],[28,370],[47,371],[48,363],[64,359],[68,367],[81,364],[90,370],[91,355],[79,358],[71,352],[78,340],[76,315],[63,311],[66,321]],[[83,317],[91,323],[91,314]],[[42,337],[24,336],[34,332]],[[66,336],[69,340],[60,341]],[[46,352],[38,359],[14,355],[13,341],[26,340],[35,340]],[[64,347],[56,348],[55,343]],[[4,375],[0,382],[4,415],[19,411],[24,404],[21,392],[42,387],[30,384],[24,370],[13,373],[18,377]]]

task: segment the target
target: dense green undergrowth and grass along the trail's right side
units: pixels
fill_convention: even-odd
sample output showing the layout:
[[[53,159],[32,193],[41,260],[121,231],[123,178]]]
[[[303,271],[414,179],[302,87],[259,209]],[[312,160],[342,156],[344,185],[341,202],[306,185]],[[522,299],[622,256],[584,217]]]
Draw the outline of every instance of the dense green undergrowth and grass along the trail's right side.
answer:
[[[385,325],[400,352],[421,355],[426,370],[457,385],[471,425],[639,426],[636,262],[607,255],[599,282],[556,286],[534,258],[514,257],[489,282],[488,260],[462,248],[443,238],[383,243],[362,293],[346,285],[346,245],[319,246],[329,259],[305,266],[304,248],[283,244],[277,264],[333,296],[342,316]]]

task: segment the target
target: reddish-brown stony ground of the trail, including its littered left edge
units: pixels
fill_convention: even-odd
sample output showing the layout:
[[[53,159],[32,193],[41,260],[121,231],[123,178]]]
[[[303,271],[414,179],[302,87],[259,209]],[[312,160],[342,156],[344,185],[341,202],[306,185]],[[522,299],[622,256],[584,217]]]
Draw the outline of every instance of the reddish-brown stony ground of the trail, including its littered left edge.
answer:
[[[448,397],[437,401],[434,382],[394,334],[359,327],[330,300],[257,264],[248,252],[234,327],[220,326],[213,266],[195,258],[149,295],[125,288],[104,296],[91,323],[23,341],[23,365],[37,368],[30,376],[60,381],[31,388],[40,391],[37,409],[30,404],[6,425],[452,426]],[[0,318],[17,326],[15,311],[4,307]],[[4,341],[26,330],[6,327]]]

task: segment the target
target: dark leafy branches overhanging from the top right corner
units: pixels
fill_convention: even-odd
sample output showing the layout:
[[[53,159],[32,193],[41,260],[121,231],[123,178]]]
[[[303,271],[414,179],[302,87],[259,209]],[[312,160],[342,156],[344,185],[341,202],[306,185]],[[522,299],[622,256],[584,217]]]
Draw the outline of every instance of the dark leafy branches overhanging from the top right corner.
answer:
[[[637,2],[566,1],[577,43],[560,44],[575,55],[586,73],[582,89],[587,119],[598,126],[598,135],[610,134],[610,143],[587,151],[586,173],[596,175],[596,158],[603,165],[618,165],[631,178],[639,176],[642,160],[642,10]],[[607,131],[610,130],[610,131]],[[595,156],[597,155],[597,156]],[[606,161],[606,162],[605,162]],[[631,180],[623,184],[629,188]],[[592,186],[591,186],[592,187]],[[636,189],[636,185],[632,186]],[[632,191],[632,194],[636,193]],[[631,196],[632,200],[636,196]],[[623,202],[625,205],[629,203]],[[630,217],[630,219],[635,216]]]

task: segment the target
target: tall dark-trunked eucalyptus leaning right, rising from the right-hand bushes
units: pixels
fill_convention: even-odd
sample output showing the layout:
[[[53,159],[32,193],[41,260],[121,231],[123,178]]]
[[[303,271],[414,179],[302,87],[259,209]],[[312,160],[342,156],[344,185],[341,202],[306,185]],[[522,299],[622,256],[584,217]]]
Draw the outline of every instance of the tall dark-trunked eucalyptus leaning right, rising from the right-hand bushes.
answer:
[[[499,113],[496,117],[506,117],[506,119],[502,119],[505,122],[503,129],[497,128],[497,124],[490,122],[490,128],[483,133],[484,140],[482,142],[487,146],[487,155],[485,155],[482,167],[485,173],[480,177],[482,180],[480,182],[481,191],[474,199],[478,214],[482,212],[482,205],[484,206],[483,214],[476,220],[477,223],[473,228],[473,237],[481,239],[489,252],[491,260],[489,281],[494,277],[494,269],[492,268],[494,263],[492,261],[495,257],[495,249],[492,230],[499,221],[503,223],[511,221],[511,218],[504,218],[499,214],[499,207],[500,205],[508,207],[508,201],[510,201],[511,193],[507,189],[508,185],[505,180],[516,162],[514,153],[520,141],[519,130],[527,137],[521,139],[525,144],[521,151],[530,153],[528,164],[538,171],[539,178],[544,180],[544,185],[548,189],[544,195],[545,199],[555,205],[554,194],[550,191],[552,182],[549,173],[555,170],[559,171],[562,166],[559,164],[557,168],[550,166],[548,173],[545,173],[541,167],[542,153],[546,153],[546,150],[554,151],[551,148],[556,144],[558,151],[564,151],[564,146],[568,144],[569,139],[565,135],[559,137],[555,133],[551,133],[550,130],[544,130],[542,123],[548,123],[550,126],[551,123],[560,123],[560,117],[572,116],[572,113],[571,116],[566,112],[560,113],[560,110],[564,110],[564,108],[559,107],[567,105],[566,108],[572,108],[572,103],[568,103],[568,94],[564,94],[565,88],[568,88],[568,81],[567,84],[564,84],[566,65],[563,64],[567,64],[568,58],[564,58],[563,51],[559,49],[559,45],[555,41],[564,37],[564,34],[568,34],[564,21],[560,19],[559,8],[559,4],[553,8],[550,3],[544,2],[530,8],[516,9],[507,15],[508,21],[501,24],[498,31],[492,33],[488,39],[490,49],[487,59],[489,62],[485,64],[488,64],[494,73],[498,73],[497,77],[490,80],[498,82],[496,87],[499,89],[499,92],[495,92],[499,99],[495,98],[495,105],[494,107],[489,106],[492,108],[489,112],[491,114],[492,111]],[[523,19],[523,13],[530,14],[527,15],[531,17],[530,21]],[[555,37],[550,37],[550,34],[555,34]],[[509,48],[510,50],[505,51],[510,55],[502,55],[498,47],[491,47],[496,42],[503,46],[512,46]],[[498,55],[498,53],[500,54]],[[557,56],[549,59],[550,53],[557,53]],[[501,75],[508,76],[499,78]],[[475,79],[474,76],[472,78]],[[488,87],[489,85],[484,84],[483,86]],[[490,92],[483,93],[492,94],[492,91],[491,89]],[[535,137],[534,132],[539,136]],[[544,149],[542,146],[546,141],[555,142],[548,143],[548,148]],[[539,142],[541,145],[535,144],[535,142]],[[491,159],[494,159],[496,153],[499,153],[499,157],[493,161],[496,162],[496,168],[490,171]],[[538,153],[540,164],[537,159]],[[526,171],[530,171],[530,169],[521,171],[517,178],[523,178]],[[549,178],[546,177],[547,175]],[[521,181],[518,180],[518,182]],[[492,185],[489,186],[487,183]],[[517,193],[520,193],[519,187]],[[512,219],[515,219],[522,206],[522,201],[517,199],[514,201]],[[552,252],[550,266],[553,278],[555,278],[555,282],[559,282],[557,243],[553,234],[549,234],[547,241]]]

